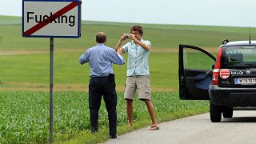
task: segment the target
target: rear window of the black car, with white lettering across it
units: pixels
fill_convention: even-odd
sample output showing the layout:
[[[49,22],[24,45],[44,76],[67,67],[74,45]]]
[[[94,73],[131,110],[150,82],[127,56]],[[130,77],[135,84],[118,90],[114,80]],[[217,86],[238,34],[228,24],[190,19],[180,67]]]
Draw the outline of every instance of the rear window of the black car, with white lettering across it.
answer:
[[[222,68],[256,68],[256,48],[253,46],[223,47]]]

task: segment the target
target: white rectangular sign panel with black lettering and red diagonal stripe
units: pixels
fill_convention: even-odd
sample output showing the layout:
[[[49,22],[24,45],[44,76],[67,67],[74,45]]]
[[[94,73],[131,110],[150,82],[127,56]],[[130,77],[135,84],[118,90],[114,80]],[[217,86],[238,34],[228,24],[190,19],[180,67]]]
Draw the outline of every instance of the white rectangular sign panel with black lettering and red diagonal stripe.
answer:
[[[23,0],[22,36],[79,38],[80,0]]]

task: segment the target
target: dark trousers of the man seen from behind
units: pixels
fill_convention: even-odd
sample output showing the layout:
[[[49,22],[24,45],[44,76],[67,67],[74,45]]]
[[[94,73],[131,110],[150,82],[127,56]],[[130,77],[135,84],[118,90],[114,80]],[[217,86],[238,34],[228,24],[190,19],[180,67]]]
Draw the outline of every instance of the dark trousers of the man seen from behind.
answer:
[[[114,76],[90,78],[89,84],[89,107],[90,107],[90,125],[92,131],[98,131],[98,110],[103,99],[106,104],[106,110],[109,118],[110,135],[117,133],[117,93],[115,91]]]

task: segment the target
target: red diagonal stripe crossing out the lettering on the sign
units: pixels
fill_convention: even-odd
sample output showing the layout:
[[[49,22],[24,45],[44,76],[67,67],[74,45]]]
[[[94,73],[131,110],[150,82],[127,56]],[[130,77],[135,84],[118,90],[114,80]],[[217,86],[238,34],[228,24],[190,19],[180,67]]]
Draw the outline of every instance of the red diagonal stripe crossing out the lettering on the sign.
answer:
[[[63,14],[66,14],[66,12],[72,10],[74,7],[78,6],[78,2],[71,2],[69,5],[63,7],[61,10],[58,10],[56,13],[52,15],[52,18],[48,17],[44,21],[38,23],[37,25],[31,27],[29,30],[26,30],[24,33],[25,35],[31,35],[34,34],[36,31],[42,29],[43,26],[48,25],[53,20],[59,18]]]

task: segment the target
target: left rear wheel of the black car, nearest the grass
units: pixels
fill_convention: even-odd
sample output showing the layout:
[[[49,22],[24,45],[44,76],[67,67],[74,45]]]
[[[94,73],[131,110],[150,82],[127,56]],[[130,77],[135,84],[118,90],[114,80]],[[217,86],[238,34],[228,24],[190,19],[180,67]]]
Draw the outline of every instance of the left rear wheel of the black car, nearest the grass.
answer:
[[[211,122],[221,122],[222,110],[220,106],[214,106],[210,102],[210,121]]]

